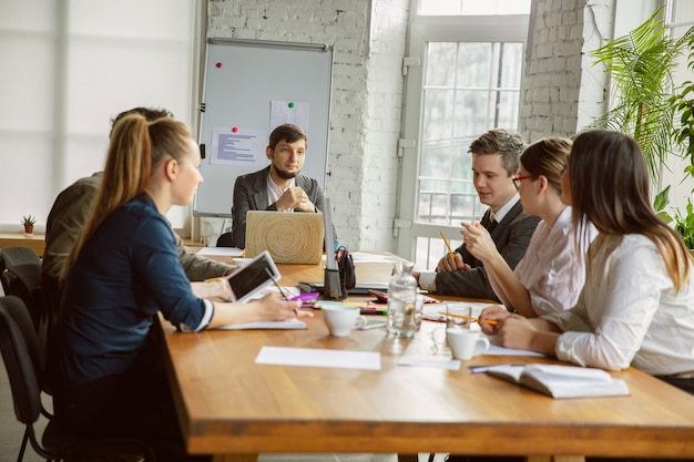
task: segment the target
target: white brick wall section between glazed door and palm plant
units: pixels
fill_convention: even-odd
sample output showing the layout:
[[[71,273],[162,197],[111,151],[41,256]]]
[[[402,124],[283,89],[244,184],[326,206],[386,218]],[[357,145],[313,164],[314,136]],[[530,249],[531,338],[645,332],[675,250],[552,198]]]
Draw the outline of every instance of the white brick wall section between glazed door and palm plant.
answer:
[[[529,141],[571,136],[606,106],[590,51],[612,34],[614,0],[533,0],[520,130]]]

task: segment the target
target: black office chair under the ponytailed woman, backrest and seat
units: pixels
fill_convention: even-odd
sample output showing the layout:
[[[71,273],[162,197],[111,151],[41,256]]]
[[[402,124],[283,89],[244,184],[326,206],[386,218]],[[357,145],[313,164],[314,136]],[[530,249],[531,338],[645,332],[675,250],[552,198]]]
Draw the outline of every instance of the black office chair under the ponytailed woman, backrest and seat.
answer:
[[[18,462],[24,458],[27,442],[48,462],[155,461],[153,451],[143,442],[88,440],[80,435],[61,433],[55,420],[50,418],[42,441],[39,442],[34,425],[42,414],[42,356],[29,311],[16,296],[0,297],[0,352],[10,381],[14,414],[25,425]]]

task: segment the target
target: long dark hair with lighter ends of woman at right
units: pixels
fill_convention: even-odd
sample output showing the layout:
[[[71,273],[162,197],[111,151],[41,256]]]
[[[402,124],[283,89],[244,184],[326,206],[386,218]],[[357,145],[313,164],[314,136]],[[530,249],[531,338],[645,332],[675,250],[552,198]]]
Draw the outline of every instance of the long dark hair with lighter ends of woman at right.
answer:
[[[569,175],[576,228],[585,217],[606,235],[642,234],[655,243],[675,290],[688,283],[692,255],[653,211],[646,164],[632,137],[606,130],[581,133]]]

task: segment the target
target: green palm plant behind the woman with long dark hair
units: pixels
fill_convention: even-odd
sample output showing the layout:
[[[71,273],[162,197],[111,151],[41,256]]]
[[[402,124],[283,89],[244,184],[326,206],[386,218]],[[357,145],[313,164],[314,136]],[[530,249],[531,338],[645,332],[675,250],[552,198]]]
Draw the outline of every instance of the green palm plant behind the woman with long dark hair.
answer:
[[[616,130],[631,135],[641,147],[654,185],[660,183],[667,156],[684,155],[690,165],[685,179],[694,178],[694,84],[676,86],[674,72],[688,50],[694,71],[694,27],[672,39],[662,21],[663,8],[629,34],[592,52],[611,79],[611,110],[590,127]],[[693,191],[694,192],[694,191]],[[666,211],[670,185],[655,195],[653,207],[672,223],[687,246],[694,249],[694,206],[691,197],[684,209]]]

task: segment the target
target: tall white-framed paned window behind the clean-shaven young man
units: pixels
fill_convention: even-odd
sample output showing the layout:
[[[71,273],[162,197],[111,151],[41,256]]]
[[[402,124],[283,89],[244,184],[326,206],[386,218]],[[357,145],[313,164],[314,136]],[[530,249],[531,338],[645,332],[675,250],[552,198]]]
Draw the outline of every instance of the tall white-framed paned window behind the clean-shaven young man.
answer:
[[[397,251],[422,269],[446,253],[440,230],[459,245],[460,222],[486,211],[468,150],[489,129],[518,127],[529,10],[501,0],[412,9]]]

